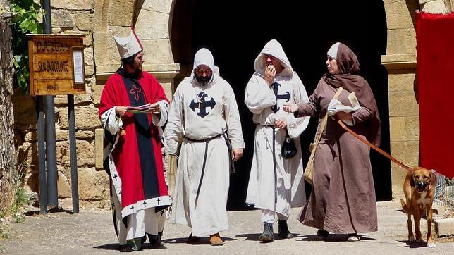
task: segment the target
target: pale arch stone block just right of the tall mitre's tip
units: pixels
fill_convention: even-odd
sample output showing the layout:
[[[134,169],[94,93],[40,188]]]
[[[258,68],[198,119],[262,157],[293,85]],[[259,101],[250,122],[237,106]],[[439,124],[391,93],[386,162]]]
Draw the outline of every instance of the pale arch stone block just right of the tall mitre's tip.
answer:
[[[135,23],[135,31],[141,41],[145,39],[168,39],[168,18],[166,13],[142,10]]]

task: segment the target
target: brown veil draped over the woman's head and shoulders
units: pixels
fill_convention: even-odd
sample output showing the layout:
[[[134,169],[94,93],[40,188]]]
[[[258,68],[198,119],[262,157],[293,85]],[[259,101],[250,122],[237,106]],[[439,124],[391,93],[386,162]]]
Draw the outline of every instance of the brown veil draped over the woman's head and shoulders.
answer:
[[[333,87],[343,87],[348,92],[355,92],[360,105],[368,108],[372,116],[364,123],[367,128],[367,139],[372,144],[380,144],[380,117],[376,107],[374,93],[369,84],[360,76],[360,63],[355,53],[345,44],[338,46],[336,61],[340,73],[326,73],[323,79]]]

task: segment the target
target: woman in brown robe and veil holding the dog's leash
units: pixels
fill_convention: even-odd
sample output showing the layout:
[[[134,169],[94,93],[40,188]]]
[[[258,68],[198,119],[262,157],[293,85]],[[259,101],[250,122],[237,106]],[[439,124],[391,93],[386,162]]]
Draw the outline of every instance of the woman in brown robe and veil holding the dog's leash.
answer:
[[[318,116],[319,126],[336,90],[343,87],[338,100],[352,106],[348,95],[355,92],[361,108],[352,113],[339,112],[328,118],[314,155],[314,187],[300,212],[300,222],[319,229],[317,237],[326,239],[329,232],[348,234],[349,241],[359,241],[357,233],[377,230],[374,180],[369,147],[345,132],[336,120],[350,120],[350,127],[369,142],[379,145],[380,119],[374,94],[360,74],[356,55],[345,44],[336,43],[328,51],[326,73],[309,103],[287,104],[284,111],[295,116]]]

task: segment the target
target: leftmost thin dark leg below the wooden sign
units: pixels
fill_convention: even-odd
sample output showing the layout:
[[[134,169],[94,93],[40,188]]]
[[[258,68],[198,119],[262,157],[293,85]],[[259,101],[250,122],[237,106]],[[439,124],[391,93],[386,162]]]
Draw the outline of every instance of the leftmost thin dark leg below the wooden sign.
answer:
[[[46,151],[44,148],[44,111],[42,96],[36,97],[39,166],[39,214],[47,214]]]

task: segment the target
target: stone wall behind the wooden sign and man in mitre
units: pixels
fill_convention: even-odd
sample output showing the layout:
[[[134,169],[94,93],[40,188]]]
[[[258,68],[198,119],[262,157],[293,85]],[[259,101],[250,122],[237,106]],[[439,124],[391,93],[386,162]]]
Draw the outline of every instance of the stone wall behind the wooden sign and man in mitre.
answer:
[[[109,178],[102,170],[102,129],[97,106],[107,78],[120,66],[113,35],[126,36],[134,25],[145,48],[145,70],[153,73],[171,98],[173,63],[169,23],[172,1],[52,0],[53,34],[85,35],[86,94],[75,95],[80,206],[109,208]],[[152,24],[152,25],[150,25]],[[39,191],[35,99],[17,92],[13,97],[18,164],[27,170],[25,184]],[[59,204],[71,209],[67,97],[55,97],[56,153]]]

